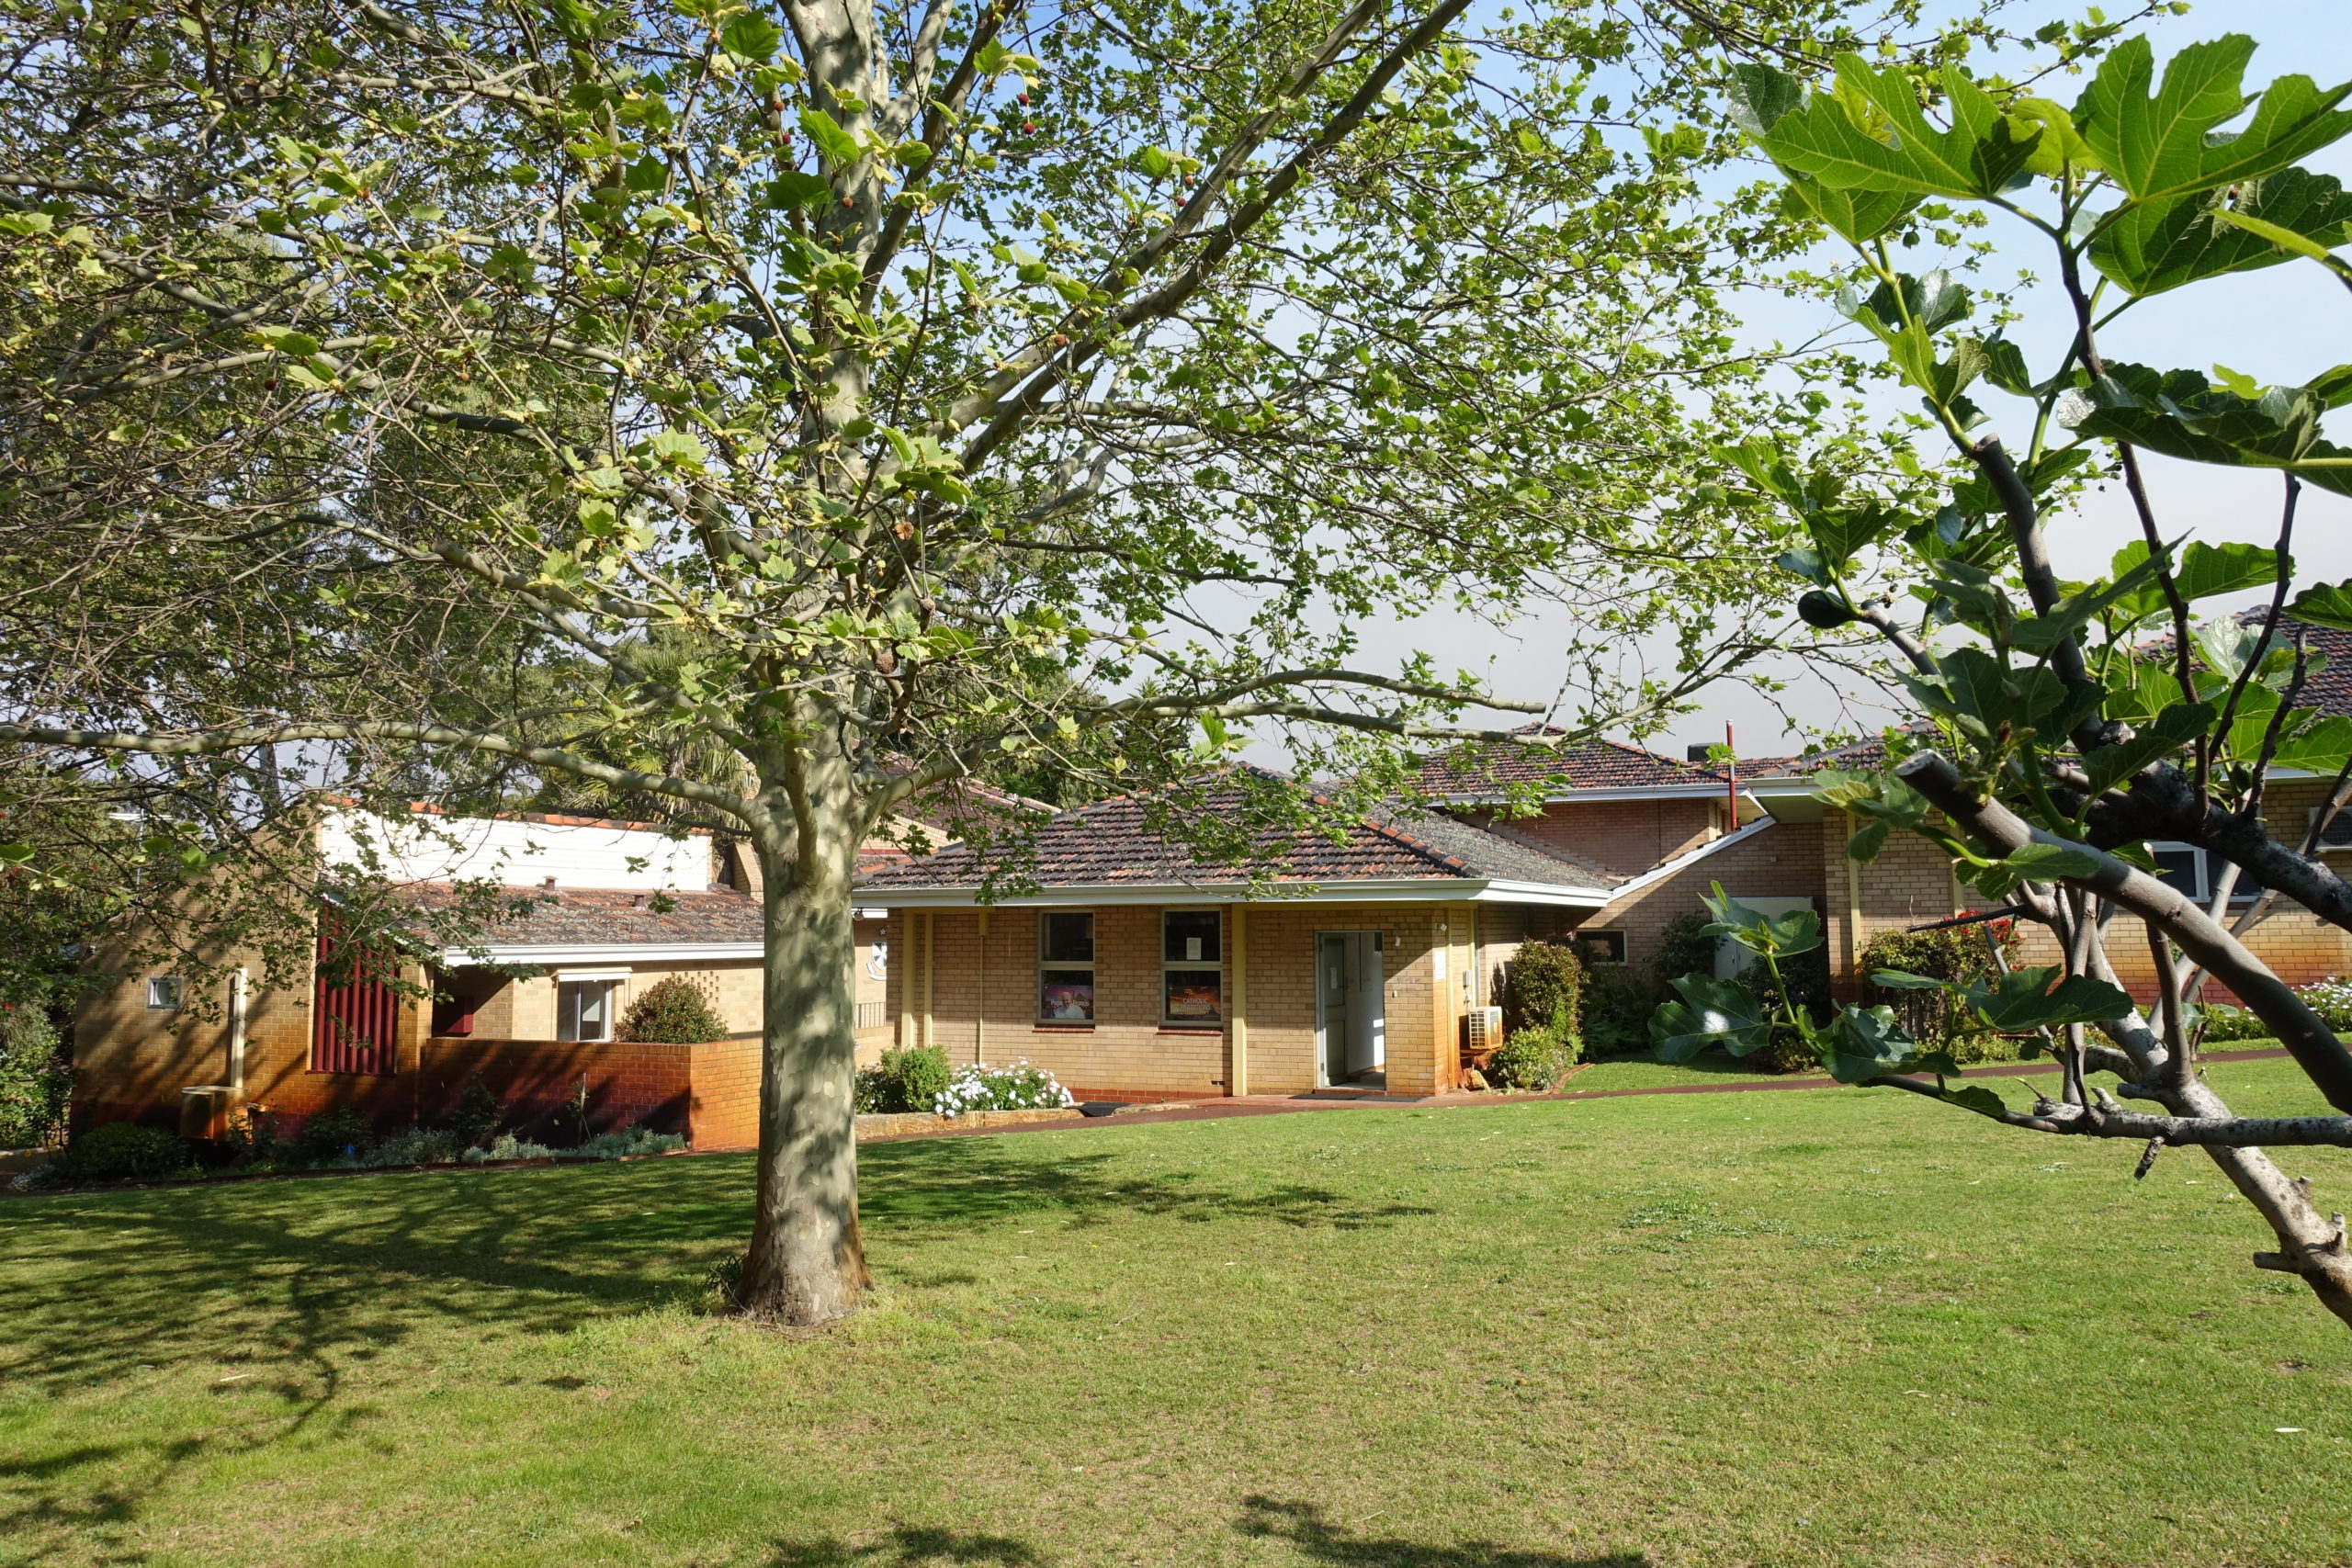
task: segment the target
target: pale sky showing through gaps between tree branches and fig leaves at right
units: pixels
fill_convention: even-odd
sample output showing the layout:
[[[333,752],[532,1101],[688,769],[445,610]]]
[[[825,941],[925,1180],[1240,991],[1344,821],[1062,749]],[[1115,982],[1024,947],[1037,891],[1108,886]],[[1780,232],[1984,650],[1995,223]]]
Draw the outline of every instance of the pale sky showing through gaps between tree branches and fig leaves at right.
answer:
[[[2079,7],[2046,9],[2051,16],[2079,14]],[[2263,42],[2249,75],[2253,85],[2293,71],[2307,73],[2321,85],[2352,75],[2352,2],[2347,0],[2209,0],[2187,16],[2157,24],[2152,38],[2164,56],[2185,42],[2232,31],[2253,33]],[[2077,92],[2065,82],[2053,87],[2053,96],[2060,101],[2072,101]],[[2352,183],[2352,146],[2331,148],[2324,158],[2312,160],[2312,167]],[[2002,237],[2018,242],[2011,256],[2042,266],[2046,252],[2030,244],[2032,235],[2006,233]],[[1797,317],[1759,320],[1757,336],[1797,336],[1804,327],[1806,322]],[[2049,331],[2060,331],[2044,306],[2023,329],[2013,329],[2013,336],[2027,343],[2034,362],[2046,362],[2046,353],[2032,353],[2037,327],[2044,331],[2044,343]],[[2317,266],[2291,263],[2136,306],[2117,322],[2103,348],[2110,357],[2143,364],[2209,369],[2218,362],[2263,383],[2300,383],[2331,364],[2352,360],[2352,294]],[[1999,395],[1985,397],[1985,404],[1997,425],[2013,423],[2013,409],[2023,409],[2016,400]],[[2338,440],[2345,440],[2343,430],[2340,423]],[[2169,536],[2272,543],[2277,534],[2277,475],[2154,458],[2150,480],[2159,522]],[[2138,522],[2117,489],[2091,496],[2074,517],[2053,522],[2051,548],[2063,574],[2089,578],[2103,571],[2117,545],[2136,536]],[[2298,517],[2296,557],[2303,581],[2352,578],[2352,501],[2307,489]],[[1785,583],[1769,588],[1778,590]],[[2249,602],[2256,597],[2260,595],[2249,595]],[[1381,646],[1381,642],[1385,637],[1369,639],[1369,646]],[[1531,701],[1550,698],[1562,675],[1562,661],[1548,651],[1548,646],[1557,646],[1555,632],[1541,618],[1522,621],[1503,632],[1468,616],[1428,616],[1397,628],[1397,642],[1432,651],[1442,668],[1486,668],[1496,691]],[[1802,745],[1799,726],[1839,724],[1842,712],[1844,722],[1863,724],[1886,717],[1884,710],[1870,705],[1849,705],[1844,696],[1820,682],[1804,682],[1780,696],[1790,715],[1783,719],[1757,693],[1724,686],[1703,712],[1679,719],[1651,745],[1679,755],[1684,743],[1722,741],[1724,719],[1733,719],[1738,750],[1766,755],[1797,750]]]

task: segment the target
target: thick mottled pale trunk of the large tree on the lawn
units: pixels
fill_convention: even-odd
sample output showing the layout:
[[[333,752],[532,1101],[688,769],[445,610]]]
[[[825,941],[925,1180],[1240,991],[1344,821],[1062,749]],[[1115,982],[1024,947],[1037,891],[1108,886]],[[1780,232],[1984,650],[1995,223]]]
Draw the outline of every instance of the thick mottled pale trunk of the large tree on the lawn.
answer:
[[[851,1121],[856,825],[847,778],[821,780],[804,799],[804,832],[767,835],[760,844],[767,914],[760,1190],[736,1291],[748,1312],[795,1326],[847,1316],[870,1284]]]

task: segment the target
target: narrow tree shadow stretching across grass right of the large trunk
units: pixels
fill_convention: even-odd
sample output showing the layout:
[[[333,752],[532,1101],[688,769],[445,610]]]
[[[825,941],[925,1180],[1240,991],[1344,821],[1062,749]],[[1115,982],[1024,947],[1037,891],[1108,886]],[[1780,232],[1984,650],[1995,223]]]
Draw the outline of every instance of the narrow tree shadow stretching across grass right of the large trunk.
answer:
[[[858,1215],[875,1229],[924,1232],[1040,1211],[1061,1211],[1077,1225],[1150,1215],[1192,1225],[1275,1220],[1331,1229],[1364,1229],[1437,1213],[1414,1204],[1369,1204],[1348,1192],[1296,1182],[1230,1192],[1204,1185],[1192,1171],[1134,1175],[1115,1173],[1115,1154],[1023,1159],[985,1147],[978,1138],[880,1145],[861,1154]]]

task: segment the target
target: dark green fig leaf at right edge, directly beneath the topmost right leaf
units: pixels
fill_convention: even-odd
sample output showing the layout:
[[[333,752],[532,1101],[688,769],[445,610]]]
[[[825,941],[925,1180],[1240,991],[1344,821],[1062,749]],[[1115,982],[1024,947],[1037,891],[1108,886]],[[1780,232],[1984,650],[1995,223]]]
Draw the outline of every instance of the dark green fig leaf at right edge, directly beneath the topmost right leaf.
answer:
[[[2131,294],[2164,294],[2223,273],[2328,254],[2352,237],[2352,195],[2333,174],[2279,169],[2270,179],[2133,202],[2091,240],[2091,266]],[[2279,249],[2286,247],[2286,249]]]

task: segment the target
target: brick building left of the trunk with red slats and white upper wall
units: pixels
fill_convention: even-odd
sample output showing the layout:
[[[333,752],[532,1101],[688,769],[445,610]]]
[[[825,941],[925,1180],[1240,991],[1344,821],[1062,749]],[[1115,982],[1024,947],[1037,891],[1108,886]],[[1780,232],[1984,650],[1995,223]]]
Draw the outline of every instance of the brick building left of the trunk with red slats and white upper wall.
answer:
[[[463,945],[419,926],[400,952],[358,966],[334,961],[329,912],[292,985],[261,985],[254,952],[200,954],[186,969],[219,976],[209,999],[172,966],[122,973],[75,1016],[75,1128],[129,1119],[209,1135],[245,1105],[270,1110],[280,1131],[341,1107],[430,1124],[480,1081],[524,1128],[586,1091],[595,1128],[633,1121],[703,1147],[757,1140],[764,943],[746,853],[706,832],[560,816],[327,809],[315,832],[325,863],[365,865],[419,907],[447,903],[459,882],[496,882],[520,912]],[[856,936],[861,1039],[880,1051],[880,917]],[[99,966],[125,969],[103,954]],[[621,1039],[630,1004],[673,976],[703,992],[727,1039]],[[433,1001],[393,980],[430,987]]]

